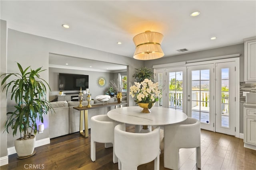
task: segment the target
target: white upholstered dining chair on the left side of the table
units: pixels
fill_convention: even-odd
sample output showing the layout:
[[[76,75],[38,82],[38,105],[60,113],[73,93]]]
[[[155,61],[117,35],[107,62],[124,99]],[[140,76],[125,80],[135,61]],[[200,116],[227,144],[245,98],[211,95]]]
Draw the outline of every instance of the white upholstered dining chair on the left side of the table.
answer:
[[[113,162],[118,158],[114,152],[114,127],[120,122],[114,121],[108,115],[91,117],[91,160],[96,160],[96,142],[105,143],[105,148],[113,147]]]

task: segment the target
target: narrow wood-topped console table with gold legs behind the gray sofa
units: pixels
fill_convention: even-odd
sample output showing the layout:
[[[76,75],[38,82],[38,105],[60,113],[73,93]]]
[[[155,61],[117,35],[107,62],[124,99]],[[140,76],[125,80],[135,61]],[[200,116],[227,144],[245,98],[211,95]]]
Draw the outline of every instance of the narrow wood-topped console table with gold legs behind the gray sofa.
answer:
[[[92,105],[92,107],[86,107],[86,106],[73,107],[74,109],[80,111],[80,135],[82,135],[85,138],[89,136],[89,131],[88,131],[88,110],[89,109],[95,109],[95,108],[100,108],[100,107],[111,107],[111,106],[115,106],[115,108],[118,108],[118,106],[122,107],[123,104],[127,104],[127,103],[108,102],[105,104],[102,104],[102,103],[94,104],[94,105]],[[83,121],[84,121],[84,130],[83,130]]]

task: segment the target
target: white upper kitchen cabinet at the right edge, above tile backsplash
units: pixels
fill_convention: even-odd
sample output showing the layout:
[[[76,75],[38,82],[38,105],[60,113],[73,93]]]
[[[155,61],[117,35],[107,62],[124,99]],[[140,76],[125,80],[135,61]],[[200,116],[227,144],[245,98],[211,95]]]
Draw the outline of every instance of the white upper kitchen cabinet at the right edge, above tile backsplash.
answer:
[[[256,37],[244,39],[244,81],[256,82]]]

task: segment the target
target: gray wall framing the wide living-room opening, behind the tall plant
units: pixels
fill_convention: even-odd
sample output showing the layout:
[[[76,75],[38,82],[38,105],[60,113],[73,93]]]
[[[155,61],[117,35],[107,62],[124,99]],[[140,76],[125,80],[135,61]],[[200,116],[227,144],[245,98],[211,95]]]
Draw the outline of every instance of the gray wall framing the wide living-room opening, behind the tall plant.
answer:
[[[143,61],[137,61],[132,58],[106,53],[104,51],[98,51],[95,49],[65,43],[54,39],[39,37],[28,33],[22,33],[13,29],[8,29],[7,41],[7,72],[18,72],[18,68],[15,62],[20,63],[23,67],[31,65],[32,69],[42,66],[44,69],[47,70],[42,72],[40,76],[47,82],[49,82],[49,53],[93,59],[115,64],[122,63],[128,66],[127,75],[129,83],[130,80],[132,80],[132,74],[134,74],[135,72],[134,68],[138,68],[144,63]],[[134,105],[132,98],[128,97],[128,102],[130,103],[130,106]],[[12,109],[14,103],[10,101],[10,98],[8,98],[7,104],[7,109]],[[49,116],[46,115],[46,117],[44,117],[44,133],[36,135],[37,140],[49,137],[48,119]],[[19,136],[13,138],[12,134],[10,133],[7,136],[7,146],[13,147],[14,139],[17,139]]]

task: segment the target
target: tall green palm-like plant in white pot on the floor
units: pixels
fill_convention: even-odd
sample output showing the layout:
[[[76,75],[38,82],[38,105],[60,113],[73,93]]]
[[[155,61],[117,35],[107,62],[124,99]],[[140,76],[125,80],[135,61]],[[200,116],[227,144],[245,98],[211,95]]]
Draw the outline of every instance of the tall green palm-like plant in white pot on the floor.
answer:
[[[32,156],[36,141],[37,124],[36,120],[44,122],[44,115],[52,106],[46,100],[46,86],[50,90],[49,84],[40,78],[39,73],[44,71],[42,67],[32,70],[28,66],[23,70],[22,66],[17,63],[20,73],[2,74],[5,76],[1,86],[6,89],[6,96],[10,90],[11,100],[14,100],[16,105],[14,111],[7,113],[8,118],[5,123],[5,130],[9,133],[8,128],[13,130],[12,135],[20,132],[20,138],[14,141],[14,147],[19,158]],[[15,77],[14,80],[7,80],[10,77]],[[34,134],[34,135],[33,135]],[[23,135],[23,136],[22,136]]]

